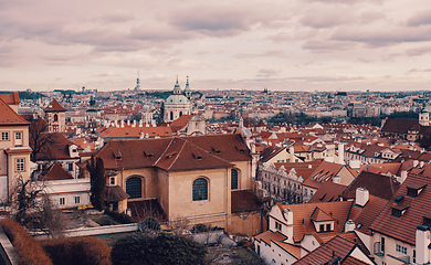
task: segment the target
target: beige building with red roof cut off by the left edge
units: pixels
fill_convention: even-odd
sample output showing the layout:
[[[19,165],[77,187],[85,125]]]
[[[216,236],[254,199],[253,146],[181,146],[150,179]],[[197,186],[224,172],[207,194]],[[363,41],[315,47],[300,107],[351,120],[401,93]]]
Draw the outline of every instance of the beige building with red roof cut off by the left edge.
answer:
[[[30,178],[29,123],[0,98],[0,203],[6,202],[15,180]]]

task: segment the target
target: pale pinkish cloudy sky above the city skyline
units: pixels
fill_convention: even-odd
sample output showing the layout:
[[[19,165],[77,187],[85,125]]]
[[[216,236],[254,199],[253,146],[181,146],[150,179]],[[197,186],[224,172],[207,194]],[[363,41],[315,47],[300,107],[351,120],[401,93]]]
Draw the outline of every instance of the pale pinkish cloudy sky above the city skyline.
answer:
[[[0,91],[421,91],[429,0],[0,0]]]

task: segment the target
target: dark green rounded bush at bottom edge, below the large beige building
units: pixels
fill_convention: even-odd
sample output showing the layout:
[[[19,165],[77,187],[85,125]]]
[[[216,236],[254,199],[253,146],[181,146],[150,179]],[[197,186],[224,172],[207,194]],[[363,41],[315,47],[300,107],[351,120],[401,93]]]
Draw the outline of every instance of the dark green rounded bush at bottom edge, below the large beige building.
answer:
[[[118,240],[112,251],[113,265],[206,264],[203,245],[182,235],[132,235]]]

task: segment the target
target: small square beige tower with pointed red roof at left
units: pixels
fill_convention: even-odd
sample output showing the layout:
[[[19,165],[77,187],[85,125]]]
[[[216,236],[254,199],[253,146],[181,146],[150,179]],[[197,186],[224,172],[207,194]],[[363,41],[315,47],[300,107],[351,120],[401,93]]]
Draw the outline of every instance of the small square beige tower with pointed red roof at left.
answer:
[[[48,123],[48,132],[66,131],[66,109],[53,99],[44,109]]]

